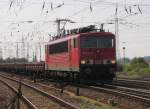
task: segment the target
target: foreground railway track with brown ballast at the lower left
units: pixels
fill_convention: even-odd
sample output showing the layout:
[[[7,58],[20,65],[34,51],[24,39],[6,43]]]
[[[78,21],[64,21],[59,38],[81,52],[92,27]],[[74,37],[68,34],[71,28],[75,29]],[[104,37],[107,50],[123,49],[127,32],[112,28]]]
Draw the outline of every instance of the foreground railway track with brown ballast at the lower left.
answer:
[[[18,89],[18,80],[11,79],[1,74],[0,76],[1,81],[7,81],[5,82],[7,85],[9,84],[9,86],[11,85]],[[24,82],[22,82],[22,94],[24,98],[28,99],[26,99],[26,101],[30,102],[30,104],[34,104],[35,109],[79,109],[71,103]]]

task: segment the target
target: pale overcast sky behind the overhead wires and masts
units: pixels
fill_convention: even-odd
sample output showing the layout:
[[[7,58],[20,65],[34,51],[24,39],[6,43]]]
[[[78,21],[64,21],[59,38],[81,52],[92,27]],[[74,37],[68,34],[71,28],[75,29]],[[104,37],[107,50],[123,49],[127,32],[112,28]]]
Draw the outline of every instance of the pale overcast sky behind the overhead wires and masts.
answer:
[[[0,57],[44,60],[44,44],[55,35],[57,18],[70,19],[65,28],[104,23],[115,33],[116,7],[119,55],[129,58],[150,56],[149,0],[0,0]],[[63,26],[63,24],[61,25]],[[22,43],[24,42],[24,43]]]

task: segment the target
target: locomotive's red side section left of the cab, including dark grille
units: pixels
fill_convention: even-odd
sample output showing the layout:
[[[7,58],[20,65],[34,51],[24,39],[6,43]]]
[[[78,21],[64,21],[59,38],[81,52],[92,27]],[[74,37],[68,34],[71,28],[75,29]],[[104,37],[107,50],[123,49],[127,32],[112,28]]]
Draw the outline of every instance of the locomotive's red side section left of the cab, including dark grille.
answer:
[[[71,71],[70,40],[47,46],[46,50],[46,69],[53,71]]]

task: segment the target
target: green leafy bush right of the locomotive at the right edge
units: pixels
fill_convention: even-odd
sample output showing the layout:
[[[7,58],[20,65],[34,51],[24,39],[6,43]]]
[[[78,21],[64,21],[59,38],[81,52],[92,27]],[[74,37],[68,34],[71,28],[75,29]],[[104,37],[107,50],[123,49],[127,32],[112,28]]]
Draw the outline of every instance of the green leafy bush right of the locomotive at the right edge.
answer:
[[[143,75],[150,73],[150,67],[143,58],[134,58],[130,64],[123,65],[125,75]]]

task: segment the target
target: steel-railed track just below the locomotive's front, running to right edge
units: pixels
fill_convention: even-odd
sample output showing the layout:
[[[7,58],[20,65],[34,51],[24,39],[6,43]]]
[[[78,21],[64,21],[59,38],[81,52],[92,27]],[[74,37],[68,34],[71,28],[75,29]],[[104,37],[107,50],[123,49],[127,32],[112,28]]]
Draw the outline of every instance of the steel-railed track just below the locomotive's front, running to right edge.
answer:
[[[150,92],[141,89],[133,89],[128,87],[120,87],[114,85],[105,85],[104,87],[98,86],[81,86],[88,89],[93,89],[98,92],[104,92],[108,94],[115,94],[122,97],[127,97],[140,102],[150,104]]]

